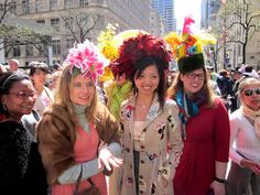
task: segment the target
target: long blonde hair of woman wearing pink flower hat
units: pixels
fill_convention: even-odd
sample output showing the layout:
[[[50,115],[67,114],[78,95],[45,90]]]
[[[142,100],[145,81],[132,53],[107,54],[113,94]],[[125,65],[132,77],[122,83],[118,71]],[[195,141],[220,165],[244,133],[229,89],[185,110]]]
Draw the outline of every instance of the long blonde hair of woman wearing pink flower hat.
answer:
[[[73,120],[75,119],[74,106],[69,98],[69,90],[67,89],[69,89],[74,77],[75,76],[71,73],[71,65],[67,65],[63,69],[62,75],[58,78],[57,90],[54,96],[54,105],[61,105],[63,107],[66,107]],[[93,121],[94,118],[96,117],[97,104],[98,104],[98,98],[97,98],[97,91],[95,90],[91,104],[86,109],[86,117],[88,121]]]

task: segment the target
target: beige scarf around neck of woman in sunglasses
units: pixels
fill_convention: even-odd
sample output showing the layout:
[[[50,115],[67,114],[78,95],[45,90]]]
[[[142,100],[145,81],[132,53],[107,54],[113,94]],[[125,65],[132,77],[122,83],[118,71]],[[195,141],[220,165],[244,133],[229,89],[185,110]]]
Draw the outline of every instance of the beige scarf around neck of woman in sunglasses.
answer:
[[[253,129],[256,131],[257,138],[260,139],[260,110],[254,111],[250,109],[246,104],[240,107],[242,115],[253,121]]]

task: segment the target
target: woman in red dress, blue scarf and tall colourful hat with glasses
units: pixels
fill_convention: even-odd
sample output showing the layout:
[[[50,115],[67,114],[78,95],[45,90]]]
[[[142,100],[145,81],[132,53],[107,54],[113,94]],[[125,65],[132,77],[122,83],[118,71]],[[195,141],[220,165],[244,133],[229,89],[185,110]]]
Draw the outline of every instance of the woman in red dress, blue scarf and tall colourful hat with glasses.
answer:
[[[182,39],[175,47],[180,73],[169,90],[180,108],[184,140],[173,181],[174,195],[206,195],[209,191],[225,195],[228,112],[208,85],[202,45],[187,29]]]

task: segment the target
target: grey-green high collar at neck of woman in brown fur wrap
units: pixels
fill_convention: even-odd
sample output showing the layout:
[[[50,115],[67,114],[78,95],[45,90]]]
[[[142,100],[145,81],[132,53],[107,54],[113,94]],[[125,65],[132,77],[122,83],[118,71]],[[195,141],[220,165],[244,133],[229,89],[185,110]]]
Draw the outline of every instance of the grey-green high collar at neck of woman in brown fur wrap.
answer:
[[[87,118],[86,118],[86,108],[87,106],[80,106],[80,105],[73,105],[74,106],[74,111],[76,113],[76,118],[77,118],[77,121],[79,123],[79,126],[86,131],[86,132],[89,132],[90,129],[89,129],[89,123],[87,121]]]

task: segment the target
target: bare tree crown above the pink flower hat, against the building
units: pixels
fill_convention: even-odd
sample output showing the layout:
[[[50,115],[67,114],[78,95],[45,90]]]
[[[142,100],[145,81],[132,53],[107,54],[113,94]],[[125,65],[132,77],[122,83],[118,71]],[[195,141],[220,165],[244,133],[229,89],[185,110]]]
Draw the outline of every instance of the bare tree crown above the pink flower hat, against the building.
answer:
[[[68,31],[76,43],[83,43],[99,21],[98,15],[85,11],[79,13],[71,11],[69,14],[62,15],[61,19],[64,21],[64,29]]]

